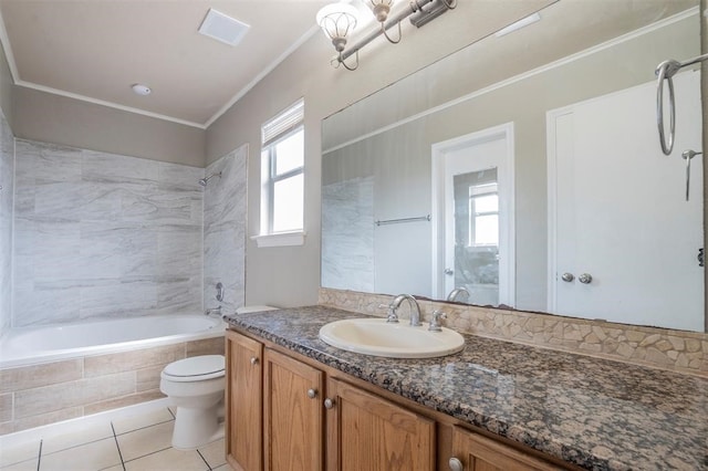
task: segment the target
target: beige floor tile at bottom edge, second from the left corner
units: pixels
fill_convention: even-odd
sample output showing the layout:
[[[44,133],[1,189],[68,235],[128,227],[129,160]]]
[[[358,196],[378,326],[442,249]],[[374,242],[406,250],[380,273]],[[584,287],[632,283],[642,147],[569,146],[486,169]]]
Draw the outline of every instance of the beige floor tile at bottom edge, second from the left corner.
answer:
[[[121,456],[114,438],[107,438],[81,447],[69,448],[40,459],[41,471],[96,471],[121,464]]]

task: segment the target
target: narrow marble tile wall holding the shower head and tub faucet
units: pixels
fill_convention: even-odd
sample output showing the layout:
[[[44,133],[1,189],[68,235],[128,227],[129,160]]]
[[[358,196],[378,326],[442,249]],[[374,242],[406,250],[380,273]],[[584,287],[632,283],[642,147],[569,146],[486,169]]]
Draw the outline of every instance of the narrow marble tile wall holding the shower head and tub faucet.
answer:
[[[211,178],[204,197],[204,307],[221,305],[231,314],[246,297],[246,179],[248,145],[209,165]],[[223,284],[223,301],[216,300],[216,285]]]

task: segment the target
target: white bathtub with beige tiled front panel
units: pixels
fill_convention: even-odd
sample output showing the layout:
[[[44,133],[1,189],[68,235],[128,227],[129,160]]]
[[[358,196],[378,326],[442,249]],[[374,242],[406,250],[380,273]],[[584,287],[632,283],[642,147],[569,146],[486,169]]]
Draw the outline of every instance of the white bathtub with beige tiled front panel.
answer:
[[[223,354],[225,329],[202,314],[10,329],[0,339],[0,436],[163,399],[162,369]]]

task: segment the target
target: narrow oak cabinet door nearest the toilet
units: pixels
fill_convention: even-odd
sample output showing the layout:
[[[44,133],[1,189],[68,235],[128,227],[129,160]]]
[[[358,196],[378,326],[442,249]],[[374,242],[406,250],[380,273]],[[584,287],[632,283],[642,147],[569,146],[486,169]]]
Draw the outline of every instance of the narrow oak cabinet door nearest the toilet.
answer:
[[[226,457],[237,471],[261,471],[263,345],[226,333]]]

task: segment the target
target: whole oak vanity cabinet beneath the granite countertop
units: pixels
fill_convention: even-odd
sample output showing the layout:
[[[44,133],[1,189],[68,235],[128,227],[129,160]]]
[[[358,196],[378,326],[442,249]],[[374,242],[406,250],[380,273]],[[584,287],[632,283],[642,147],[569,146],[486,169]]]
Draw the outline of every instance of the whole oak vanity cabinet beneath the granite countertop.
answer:
[[[575,469],[268,342],[235,331],[226,342],[226,452],[236,471]]]

